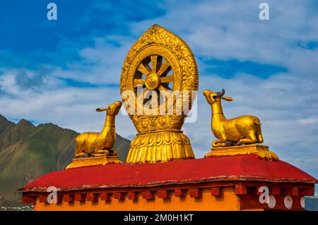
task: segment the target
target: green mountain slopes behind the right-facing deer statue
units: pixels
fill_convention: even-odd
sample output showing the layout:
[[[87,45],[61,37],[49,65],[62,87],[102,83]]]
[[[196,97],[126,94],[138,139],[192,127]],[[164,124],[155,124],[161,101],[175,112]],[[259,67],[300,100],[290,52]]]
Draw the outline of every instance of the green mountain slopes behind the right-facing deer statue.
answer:
[[[52,123],[34,126],[0,114],[0,202],[18,202],[18,188],[51,171],[63,170],[74,155],[76,131]],[[124,162],[129,140],[117,134],[114,149]],[[8,204],[6,204],[8,205]]]

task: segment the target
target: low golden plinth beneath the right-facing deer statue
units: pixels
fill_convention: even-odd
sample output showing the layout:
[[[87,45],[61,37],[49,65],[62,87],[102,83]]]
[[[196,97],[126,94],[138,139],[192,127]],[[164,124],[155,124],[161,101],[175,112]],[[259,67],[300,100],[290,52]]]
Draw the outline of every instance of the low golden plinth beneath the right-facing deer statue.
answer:
[[[114,150],[116,152],[116,150]],[[72,169],[83,166],[97,166],[106,164],[122,164],[116,153],[114,155],[107,155],[103,157],[88,157],[88,158],[76,158],[73,162],[66,166],[66,169]]]

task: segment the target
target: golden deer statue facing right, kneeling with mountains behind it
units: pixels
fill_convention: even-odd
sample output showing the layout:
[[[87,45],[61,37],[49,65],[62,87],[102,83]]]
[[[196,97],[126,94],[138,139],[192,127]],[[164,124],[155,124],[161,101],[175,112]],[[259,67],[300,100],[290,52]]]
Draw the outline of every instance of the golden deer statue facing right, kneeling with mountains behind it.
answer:
[[[96,111],[107,111],[105,125],[102,132],[86,132],[78,135],[76,140],[75,157],[101,157],[112,152],[116,142],[115,116],[119,113],[122,102],[114,102],[107,108],[98,108]]]

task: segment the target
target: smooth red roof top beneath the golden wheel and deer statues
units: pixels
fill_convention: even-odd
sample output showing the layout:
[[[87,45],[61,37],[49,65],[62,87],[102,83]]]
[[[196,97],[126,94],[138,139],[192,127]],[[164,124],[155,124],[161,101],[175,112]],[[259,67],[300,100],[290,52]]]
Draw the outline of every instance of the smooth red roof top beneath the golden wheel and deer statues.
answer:
[[[157,164],[107,164],[55,171],[25,186],[41,190],[114,188],[197,183],[202,181],[284,181],[317,183],[304,171],[283,161],[269,162],[254,155],[187,159]]]

